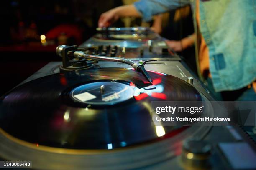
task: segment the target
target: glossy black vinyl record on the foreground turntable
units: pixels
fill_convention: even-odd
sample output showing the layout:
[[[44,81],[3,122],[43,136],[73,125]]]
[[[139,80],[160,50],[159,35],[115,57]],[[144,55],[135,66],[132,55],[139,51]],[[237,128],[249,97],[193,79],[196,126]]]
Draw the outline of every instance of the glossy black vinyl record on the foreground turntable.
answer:
[[[0,128],[35,145],[114,149],[159,139],[151,101],[201,100],[187,82],[133,69],[77,70],[42,77],[0,98]],[[165,126],[163,135],[180,130]]]

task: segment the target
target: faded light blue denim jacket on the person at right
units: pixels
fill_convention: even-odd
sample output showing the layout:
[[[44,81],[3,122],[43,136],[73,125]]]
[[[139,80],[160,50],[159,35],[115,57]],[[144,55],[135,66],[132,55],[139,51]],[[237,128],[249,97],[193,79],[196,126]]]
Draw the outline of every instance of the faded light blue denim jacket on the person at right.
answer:
[[[152,15],[190,4],[196,28],[195,1],[140,0],[134,6],[148,21]],[[256,79],[256,0],[200,0],[199,7],[215,91],[251,84]]]

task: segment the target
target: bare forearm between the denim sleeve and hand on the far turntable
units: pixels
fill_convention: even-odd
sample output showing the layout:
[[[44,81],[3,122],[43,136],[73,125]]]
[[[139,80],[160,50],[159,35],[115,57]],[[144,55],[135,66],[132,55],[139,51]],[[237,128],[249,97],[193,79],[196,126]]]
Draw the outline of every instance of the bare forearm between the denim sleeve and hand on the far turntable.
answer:
[[[112,10],[118,17],[141,17],[141,13],[136,10],[133,4],[123,5]]]

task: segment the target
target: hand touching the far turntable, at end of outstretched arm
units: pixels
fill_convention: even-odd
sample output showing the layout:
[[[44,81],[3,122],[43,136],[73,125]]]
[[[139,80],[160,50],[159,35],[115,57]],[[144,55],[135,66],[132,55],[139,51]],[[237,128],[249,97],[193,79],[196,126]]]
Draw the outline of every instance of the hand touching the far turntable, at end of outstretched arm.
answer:
[[[119,18],[119,16],[115,12],[115,8],[114,8],[114,9],[109,10],[100,15],[100,19],[98,21],[98,26],[99,27],[109,27],[112,23],[117,21],[118,18]]]

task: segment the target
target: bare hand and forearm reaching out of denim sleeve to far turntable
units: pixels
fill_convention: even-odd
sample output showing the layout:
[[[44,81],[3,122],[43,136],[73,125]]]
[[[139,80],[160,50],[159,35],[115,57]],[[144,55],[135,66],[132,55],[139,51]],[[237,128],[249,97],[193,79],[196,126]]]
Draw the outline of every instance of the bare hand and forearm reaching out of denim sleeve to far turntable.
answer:
[[[120,17],[141,17],[141,14],[136,10],[134,5],[123,5],[115,7],[100,15],[98,21],[99,27],[109,27],[112,23],[118,20]]]

